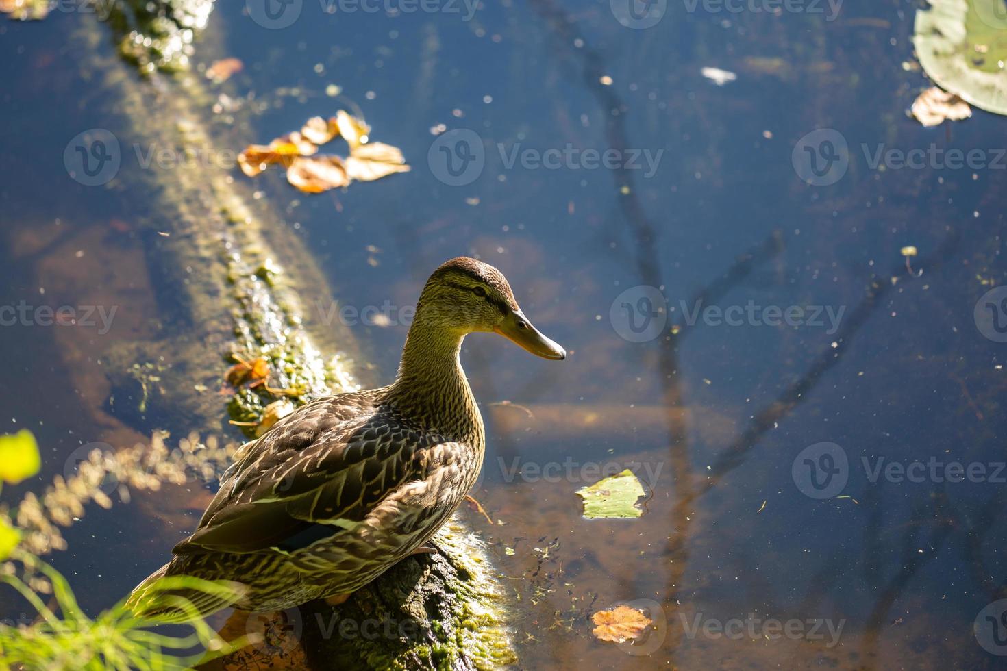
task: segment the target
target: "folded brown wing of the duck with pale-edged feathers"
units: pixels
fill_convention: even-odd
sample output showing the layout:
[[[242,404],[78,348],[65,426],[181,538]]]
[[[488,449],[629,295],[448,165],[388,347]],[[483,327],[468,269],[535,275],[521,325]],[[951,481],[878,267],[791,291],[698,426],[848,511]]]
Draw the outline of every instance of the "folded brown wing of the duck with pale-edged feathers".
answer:
[[[296,549],[355,528],[390,493],[425,480],[426,452],[444,439],[359,395],[309,403],[243,447],[173,552]]]

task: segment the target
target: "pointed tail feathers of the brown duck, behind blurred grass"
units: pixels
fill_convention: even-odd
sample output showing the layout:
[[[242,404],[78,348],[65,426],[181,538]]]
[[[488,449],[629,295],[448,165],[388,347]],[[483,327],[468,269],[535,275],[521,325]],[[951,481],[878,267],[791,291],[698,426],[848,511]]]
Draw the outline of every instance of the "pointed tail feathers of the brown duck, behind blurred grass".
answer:
[[[125,606],[134,617],[164,625],[192,622],[233,606],[247,592],[241,582],[186,575],[177,562],[176,557],[133,589]]]

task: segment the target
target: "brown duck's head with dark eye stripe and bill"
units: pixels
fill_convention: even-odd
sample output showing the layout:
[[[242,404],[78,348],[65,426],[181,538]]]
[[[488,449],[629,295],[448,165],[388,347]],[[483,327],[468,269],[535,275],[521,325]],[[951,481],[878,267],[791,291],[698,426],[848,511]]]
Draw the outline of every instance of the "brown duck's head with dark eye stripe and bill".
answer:
[[[458,257],[427,280],[416,319],[445,334],[498,333],[532,354],[565,359],[566,350],[543,335],[518,307],[503,274],[488,264]]]

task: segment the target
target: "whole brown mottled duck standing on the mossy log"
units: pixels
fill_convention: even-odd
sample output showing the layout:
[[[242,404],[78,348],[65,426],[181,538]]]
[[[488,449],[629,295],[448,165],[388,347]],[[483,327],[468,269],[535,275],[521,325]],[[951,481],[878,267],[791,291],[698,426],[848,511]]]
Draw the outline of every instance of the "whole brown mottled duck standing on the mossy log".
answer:
[[[336,603],[426,551],[482,466],[482,416],[459,360],[473,332],[566,357],[525,317],[499,271],[467,258],[443,264],[420,294],[395,381],[318,398],[243,446],[195,532],[134,590],[134,611],[183,616],[149,590],[172,575],[238,588],[237,602],[173,594],[203,616]]]

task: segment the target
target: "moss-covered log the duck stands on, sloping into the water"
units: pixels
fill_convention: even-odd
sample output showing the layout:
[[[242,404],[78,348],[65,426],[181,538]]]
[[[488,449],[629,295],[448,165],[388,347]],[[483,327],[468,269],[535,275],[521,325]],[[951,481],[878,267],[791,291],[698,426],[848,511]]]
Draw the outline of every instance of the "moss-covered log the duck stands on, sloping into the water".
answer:
[[[165,30],[164,21],[192,11],[191,2],[172,0],[116,4],[114,40],[142,34],[144,25],[130,23],[137,17],[156,16]],[[211,22],[199,38],[204,60],[217,55],[219,29]],[[85,104],[121,114],[130,143],[184,153],[250,141],[229,137],[234,126],[210,123],[212,96],[187,63],[164,68],[169,72],[144,66],[140,73],[136,63],[157,61],[157,54],[131,53],[124,59],[109,48],[108,28],[96,21],[83,21],[77,38],[83,73],[98,79]],[[151,285],[159,288],[161,336],[118,346],[105,359],[113,381],[110,409],[143,431],[233,432],[227,401],[218,393],[232,353],[267,359],[270,385],[293,390],[294,402],[359,384],[354,376],[359,355],[348,331],[312,323],[305,312],[306,305],[331,301],[311,254],[265,199],[252,197],[244,177],[211,163],[122,170],[108,187],[149,193],[153,212],[138,224]],[[254,424],[269,400],[267,391],[246,389],[232,397],[230,414]],[[474,669],[513,661],[505,600],[481,541],[455,518],[435,544],[436,552],[400,562],[341,606],[297,609],[302,625],[376,618],[400,625],[396,635],[378,637],[305,626],[302,640],[311,666]],[[241,666],[241,656],[249,654],[255,651],[231,660]]]

